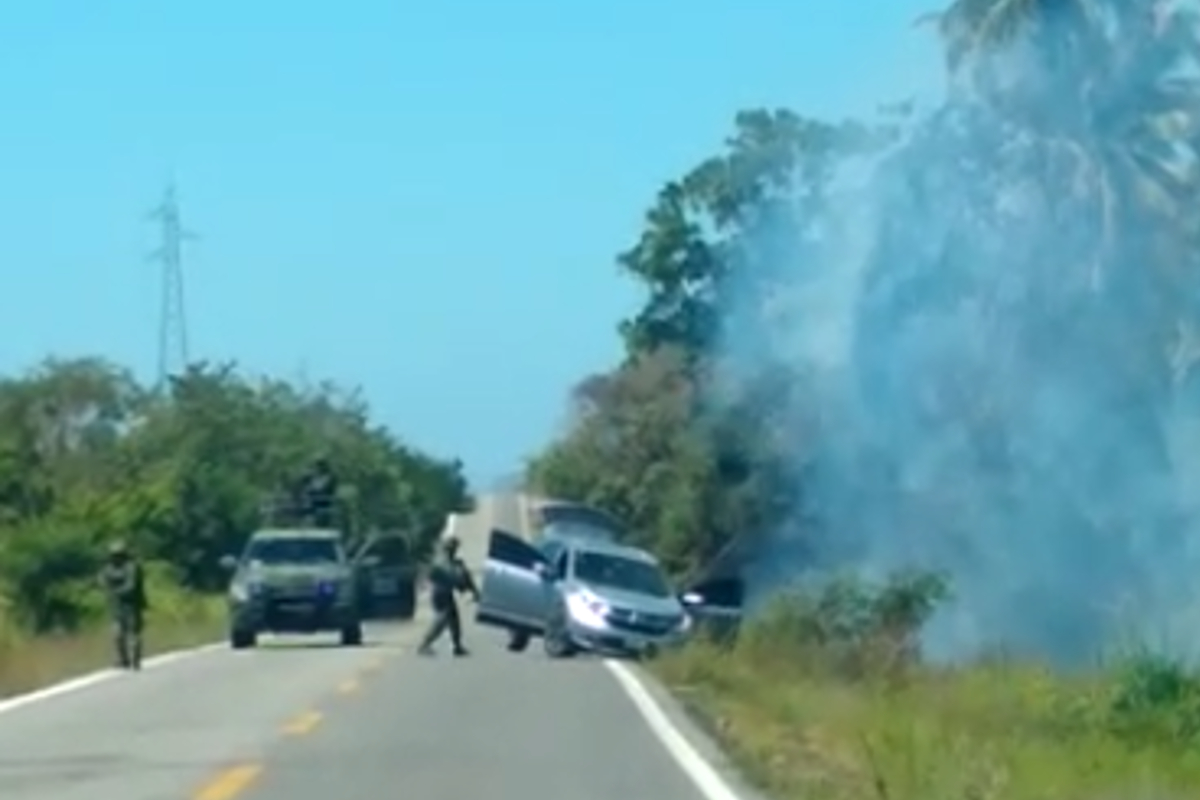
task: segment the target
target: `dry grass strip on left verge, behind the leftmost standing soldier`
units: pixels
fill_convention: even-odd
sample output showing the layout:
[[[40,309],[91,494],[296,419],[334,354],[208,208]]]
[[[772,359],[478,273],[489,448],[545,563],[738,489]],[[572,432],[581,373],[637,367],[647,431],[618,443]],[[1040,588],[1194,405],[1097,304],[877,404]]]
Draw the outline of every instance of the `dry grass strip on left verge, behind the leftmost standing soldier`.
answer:
[[[152,613],[146,625],[146,655],[216,642],[224,634],[220,606],[211,601],[175,602]],[[107,626],[85,631],[28,636],[0,619],[0,697],[11,697],[113,663]]]

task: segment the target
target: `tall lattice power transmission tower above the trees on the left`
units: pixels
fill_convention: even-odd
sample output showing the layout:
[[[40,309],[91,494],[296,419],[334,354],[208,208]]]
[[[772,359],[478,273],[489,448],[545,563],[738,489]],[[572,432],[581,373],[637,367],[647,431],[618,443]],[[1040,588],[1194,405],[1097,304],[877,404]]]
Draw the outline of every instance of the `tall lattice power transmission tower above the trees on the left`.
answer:
[[[187,349],[187,307],[184,302],[184,242],[196,235],[184,229],[175,185],[169,184],[162,203],[150,212],[160,224],[162,241],[150,259],[161,270],[162,305],[158,309],[158,386],[191,363]]]

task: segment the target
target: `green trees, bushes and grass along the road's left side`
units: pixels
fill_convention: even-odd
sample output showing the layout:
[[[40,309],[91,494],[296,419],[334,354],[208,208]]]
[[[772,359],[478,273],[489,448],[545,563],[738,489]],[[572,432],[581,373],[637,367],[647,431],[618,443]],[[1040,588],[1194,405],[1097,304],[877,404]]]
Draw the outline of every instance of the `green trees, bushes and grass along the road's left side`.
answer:
[[[152,391],[98,359],[0,379],[0,696],[109,664],[96,576],[114,539],[148,567],[151,652],[223,638],[220,558],[317,456],[355,536],[403,531],[424,553],[469,501],[457,462],[329,384],[198,365]]]

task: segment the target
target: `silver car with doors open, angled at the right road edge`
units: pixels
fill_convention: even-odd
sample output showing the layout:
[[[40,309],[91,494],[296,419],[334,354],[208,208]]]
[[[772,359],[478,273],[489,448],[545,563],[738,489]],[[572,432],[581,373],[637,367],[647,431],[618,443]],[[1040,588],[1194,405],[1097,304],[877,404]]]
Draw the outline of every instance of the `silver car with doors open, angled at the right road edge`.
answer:
[[[492,531],[476,606],[482,625],[506,628],[510,650],[541,637],[546,654],[652,654],[684,642],[702,594],[677,594],[649,553],[602,536]],[[739,612],[740,609],[738,609]]]

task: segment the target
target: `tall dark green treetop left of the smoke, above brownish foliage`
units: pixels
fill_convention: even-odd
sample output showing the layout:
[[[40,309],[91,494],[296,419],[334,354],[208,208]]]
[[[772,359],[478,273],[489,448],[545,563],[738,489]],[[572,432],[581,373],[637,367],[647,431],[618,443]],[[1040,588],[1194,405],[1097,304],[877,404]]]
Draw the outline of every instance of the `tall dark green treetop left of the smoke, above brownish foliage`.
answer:
[[[779,270],[814,246],[838,167],[888,140],[884,128],[787,110],[743,112],[734,127],[726,154],[659,192],[637,243],[618,257],[648,290],[620,326],[630,353],[673,345],[691,366],[710,359],[737,315],[769,305]]]

